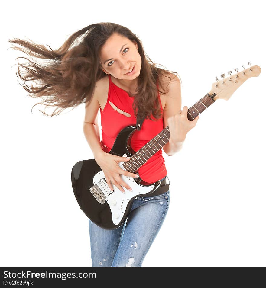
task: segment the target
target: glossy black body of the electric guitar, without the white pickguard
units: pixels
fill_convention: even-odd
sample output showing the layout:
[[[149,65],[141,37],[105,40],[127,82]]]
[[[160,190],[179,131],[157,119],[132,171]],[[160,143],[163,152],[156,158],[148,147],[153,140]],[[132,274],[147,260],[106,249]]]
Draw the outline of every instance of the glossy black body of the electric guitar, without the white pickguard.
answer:
[[[126,154],[127,156],[132,156],[135,151],[131,148],[130,142],[135,130],[136,126],[134,125],[127,126],[122,129],[116,137],[114,145],[109,153],[118,156],[123,156],[124,154]],[[94,175],[100,171],[102,171],[102,169],[97,164],[95,159],[77,162],[73,166],[71,171],[73,192],[81,210],[83,210],[83,212],[92,222],[105,229],[117,229],[126,221],[135,197],[129,201],[122,220],[119,222],[118,225],[115,225],[112,221],[112,213],[108,203],[105,202],[103,204],[100,204],[89,190],[95,184],[93,183]],[[155,188],[151,188],[150,193],[139,194],[138,196],[148,196],[157,187],[157,184],[155,184],[154,182],[147,183],[141,178],[135,178],[134,181],[137,182],[140,186],[151,186],[152,184],[155,185]]]

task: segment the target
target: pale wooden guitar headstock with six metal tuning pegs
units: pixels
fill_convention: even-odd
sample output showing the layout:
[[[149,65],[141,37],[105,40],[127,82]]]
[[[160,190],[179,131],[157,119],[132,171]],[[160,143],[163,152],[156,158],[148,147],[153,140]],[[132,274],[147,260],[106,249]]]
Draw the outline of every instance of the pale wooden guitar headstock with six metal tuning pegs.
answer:
[[[216,94],[213,99],[228,100],[236,89],[238,89],[238,87],[247,79],[260,75],[260,66],[251,66],[251,62],[248,62],[248,65],[250,65],[250,67],[247,69],[242,66],[244,68],[242,71],[238,71],[238,68],[235,68],[236,73],[234,75],[232,75],[232,71],[228,71],[229,77],[225,78],[225,74],[222,74],[221,77],[223,79],[220,81],[218,81],[218,78],[216,77],[217,82],[212,84],[212,89],[209,92],[210,95],[213,95],[214,93]]]

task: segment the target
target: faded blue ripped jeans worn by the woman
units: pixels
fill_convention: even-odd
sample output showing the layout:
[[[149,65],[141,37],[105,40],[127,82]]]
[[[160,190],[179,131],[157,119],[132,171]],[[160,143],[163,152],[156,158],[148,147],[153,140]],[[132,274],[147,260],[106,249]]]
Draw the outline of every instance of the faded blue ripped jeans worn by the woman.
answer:
[[[164,222],[169,201],[170,190],[136,197],[125,223],[114,230],[103,229],[89,219],[92,267],[141,267]]]

